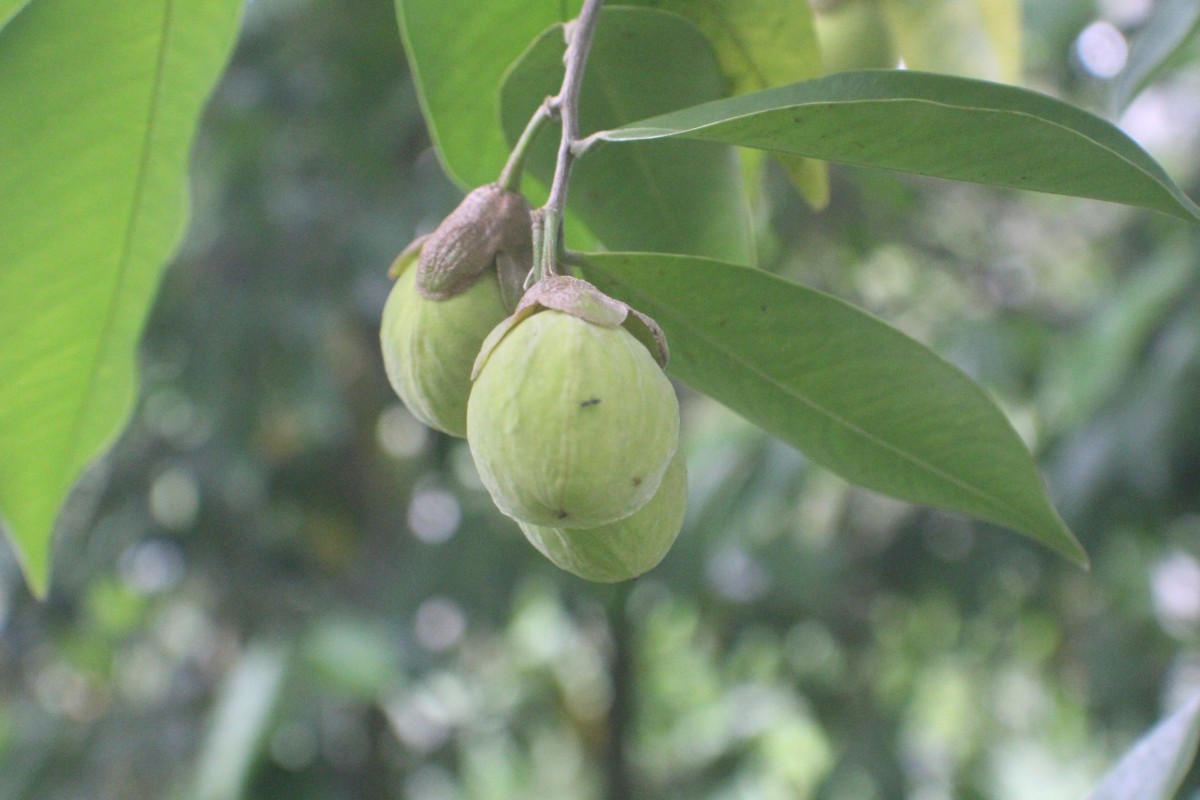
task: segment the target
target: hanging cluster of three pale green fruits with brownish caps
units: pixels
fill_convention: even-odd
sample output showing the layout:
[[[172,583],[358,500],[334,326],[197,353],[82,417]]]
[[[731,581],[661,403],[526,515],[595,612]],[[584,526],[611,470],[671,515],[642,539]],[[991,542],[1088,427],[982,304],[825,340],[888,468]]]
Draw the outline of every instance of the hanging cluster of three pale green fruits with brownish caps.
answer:
[[[653,320],[577,278],[546,277],[516,301],[530,241],[520,194],[468,194],[397,259],[384,366],[414,416],[467,438],[496,505],[551,561],[634,578],[666,555],[686,507],[666,345]]]

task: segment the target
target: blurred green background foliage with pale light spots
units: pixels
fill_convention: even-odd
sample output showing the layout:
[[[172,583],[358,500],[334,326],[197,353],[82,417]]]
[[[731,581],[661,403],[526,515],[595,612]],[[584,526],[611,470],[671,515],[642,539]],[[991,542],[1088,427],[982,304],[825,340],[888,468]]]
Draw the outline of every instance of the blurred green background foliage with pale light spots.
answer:
[[[1027,84],[1103,112],[1102,56],[1150,5],[1028,4]],[[1195,49],[1122,118],[1193,197]],[[252,1],[194,164],[139,410],[64,515],[48,601],[0,555],[0,798],[1080,798],[1200,690],[1177,221],[836,167],[814,213],[769,173],[762,265],[982,380],[1092,571],[684,390],[684,533],[598,587],[384,378],[386,266],[460,197],[389,0]]]

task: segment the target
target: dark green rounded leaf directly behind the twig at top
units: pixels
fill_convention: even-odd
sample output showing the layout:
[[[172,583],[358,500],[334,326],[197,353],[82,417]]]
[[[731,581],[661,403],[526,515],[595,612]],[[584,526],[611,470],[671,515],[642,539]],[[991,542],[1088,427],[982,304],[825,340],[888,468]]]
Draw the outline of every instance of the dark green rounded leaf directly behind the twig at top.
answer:
[[[544,32],[514,65],[500,92],[504,130],[516,142],[563,82],[563,29]],[[649,8],[606,8],[596,26],[580,100],[583,133],[721,95],[713,50],[695,25]],[[548,184],[558,137],[542,134],[528,168]],[[750,231],[732,149],[702,142],[600,148],[571,172],[570,207],[613,249],[647,248],[750,259]]]

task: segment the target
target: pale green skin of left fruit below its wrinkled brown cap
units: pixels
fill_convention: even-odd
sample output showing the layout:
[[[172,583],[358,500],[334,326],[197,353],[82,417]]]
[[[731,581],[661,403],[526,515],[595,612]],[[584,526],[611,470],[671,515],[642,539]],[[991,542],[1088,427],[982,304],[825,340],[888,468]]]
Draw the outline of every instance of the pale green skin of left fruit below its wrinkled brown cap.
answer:
[[[467,435],[470,371],[488,332],[508,317],[494,271],[449,300],[422,297],[416,270],[396,281],[383,309],[379,341],[392,389],[418,420]]]

